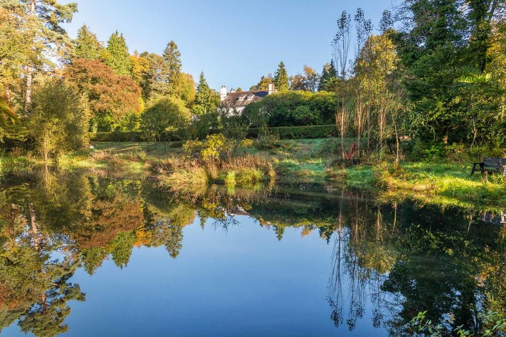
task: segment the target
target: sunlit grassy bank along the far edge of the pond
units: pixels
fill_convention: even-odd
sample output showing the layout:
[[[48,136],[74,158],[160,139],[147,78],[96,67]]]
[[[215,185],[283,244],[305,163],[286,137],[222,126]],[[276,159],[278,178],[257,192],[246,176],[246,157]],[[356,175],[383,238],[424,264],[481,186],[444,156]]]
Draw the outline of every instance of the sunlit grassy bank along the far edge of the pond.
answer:
[[[347,143],[352,142],[352,139],[347,140]],[[160,167],[178,162],[182,156],[182,149],[174,145],[177,144],[97,142],[90,151],[62,156],[50,163],[26,156],[5,155],[0,167],[6,173],[52,164],[67,170],[86,168],[105,173],[156,174],[166,178]],[[377,192],[382,199],[411,198],[441,206],[497,211],[506,207],[506,180],[499,175],[470,176],[470,162],[402,162],[395,166],[392,161],[383,161],[339,168],[329,165],[334,146],[331,139],[281,141],[279,148],[263,151],[246,148],[236,156],[255,155],[268,161],[280,183],[344,185]],[[181,179],[190,178],[185,178],[184,174]],[[200,181],[234,185],[232,178],[235,174],[237,172],[221,172],[216,179],[202,178]]]

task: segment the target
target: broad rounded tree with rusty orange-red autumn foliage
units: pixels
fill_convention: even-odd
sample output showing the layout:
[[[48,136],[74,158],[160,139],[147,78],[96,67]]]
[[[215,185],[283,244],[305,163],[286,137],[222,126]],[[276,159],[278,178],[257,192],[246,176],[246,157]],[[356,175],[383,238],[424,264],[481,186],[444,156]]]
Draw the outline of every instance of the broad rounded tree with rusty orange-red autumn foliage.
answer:
[[[116,75],[100,60],[75,59],[64,76],[87,95],[93,112],[93,131],[113,131],[121,118],[139,112],[141,88],[136,81]]]

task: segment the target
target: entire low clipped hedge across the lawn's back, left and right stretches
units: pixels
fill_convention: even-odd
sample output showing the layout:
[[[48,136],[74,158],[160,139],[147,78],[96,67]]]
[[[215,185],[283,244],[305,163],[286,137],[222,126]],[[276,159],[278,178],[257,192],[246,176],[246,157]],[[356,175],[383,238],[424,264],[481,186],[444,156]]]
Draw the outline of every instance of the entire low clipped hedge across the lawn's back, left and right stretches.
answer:
[[[268,128],[269,132],[279,136],[280,139],[297,138],[325,138],[335,137],[335,125],[308,125],[306,127],[276,127]],[[260,128],[251,128],[246,135],[247,138],[257,138]],[[141,132],[94,132],[90,133],[90,139],[95,142],[144,142],[147,139]],[[165,132],[161,141],[179,141],[174,132]]]

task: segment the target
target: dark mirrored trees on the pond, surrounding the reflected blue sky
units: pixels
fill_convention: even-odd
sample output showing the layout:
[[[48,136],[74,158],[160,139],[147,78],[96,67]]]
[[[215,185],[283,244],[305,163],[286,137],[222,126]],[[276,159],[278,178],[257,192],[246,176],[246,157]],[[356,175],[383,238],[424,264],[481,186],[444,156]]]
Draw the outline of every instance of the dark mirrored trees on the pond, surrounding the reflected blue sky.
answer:
[[[7,177],[1,187],[0,331],[17,322],[36,336],[66,332],[68,302],[86,299],[71,282],[78,268],[94,275],[108,259],[125,268],[141,246],[164,247],[176,259],[185,226],[240,230],[238,216],[278,240],[297,227],[333,245],[326,300],[336,327],[354,331],[360,322],[410,334],[411,318],[427,310],[449,332],[459,325],[477,332],[480,312],[506,307],[503,231],[481,213],[382,204],[345,189],[212,186],[174,194],[155,180],[49,169]]]

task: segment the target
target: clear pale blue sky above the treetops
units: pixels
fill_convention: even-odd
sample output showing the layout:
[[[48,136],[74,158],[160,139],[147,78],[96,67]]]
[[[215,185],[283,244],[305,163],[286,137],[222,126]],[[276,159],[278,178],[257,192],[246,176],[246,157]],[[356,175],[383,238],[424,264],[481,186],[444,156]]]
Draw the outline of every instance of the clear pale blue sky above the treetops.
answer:
[[[183,71],[212,88],[246,90],[283,60],[288,74],[304,64],[321,71],[331,59],[335,22],[343,10],[364,10],[374,27],[391,0],[73,0],[79,12],[66,25],[71,37],[86,23],[101,41],[122,32],[130,52],[161,54],[173,39]]]

